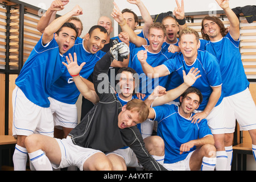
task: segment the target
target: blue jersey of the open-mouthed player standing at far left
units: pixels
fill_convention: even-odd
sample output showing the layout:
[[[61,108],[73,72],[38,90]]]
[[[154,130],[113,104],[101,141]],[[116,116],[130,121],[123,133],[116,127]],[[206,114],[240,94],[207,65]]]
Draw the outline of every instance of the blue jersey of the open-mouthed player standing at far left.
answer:
[[[49,107],[49,88],[64,72],[59,45],[53,38],[43,45],[42,37],[31,51],[23,65],[15,84],[19,86],[25,96],[34,104]]]

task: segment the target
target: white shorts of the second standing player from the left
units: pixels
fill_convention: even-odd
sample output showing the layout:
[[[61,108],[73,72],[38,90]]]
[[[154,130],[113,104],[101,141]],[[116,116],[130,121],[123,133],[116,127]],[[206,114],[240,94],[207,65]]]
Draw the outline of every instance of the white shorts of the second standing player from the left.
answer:
[[[62,127],[75,128],[77,125],[77,108],[76,104],[66,104],[48,97],[51,102],[50,109],[53,114],[54,126],[57,129]]]

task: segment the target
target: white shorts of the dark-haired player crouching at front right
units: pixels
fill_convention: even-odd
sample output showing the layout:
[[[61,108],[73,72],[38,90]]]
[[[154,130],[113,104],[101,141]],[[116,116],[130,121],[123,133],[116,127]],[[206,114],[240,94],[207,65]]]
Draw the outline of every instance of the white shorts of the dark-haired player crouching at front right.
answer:
[[[163,167],[165,167],[168,171],[191,171],[189,167],[189,160],[194,151],[190,152],[184,160],[180,160],[176,163],[164,163]]]

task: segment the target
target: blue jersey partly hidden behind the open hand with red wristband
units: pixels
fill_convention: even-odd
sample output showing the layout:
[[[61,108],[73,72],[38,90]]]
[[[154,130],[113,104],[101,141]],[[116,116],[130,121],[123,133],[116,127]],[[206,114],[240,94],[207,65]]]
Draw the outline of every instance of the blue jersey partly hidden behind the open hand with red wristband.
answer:
[[[76,52],[77,64],[80,65],[83,62],[86,63],[80,71],[80,76],[88,78],[93,72],[94,65],[98,60],[101,59],[101,57],[105,55],[105,52],[98,51],[94,54],[90,53],[86,51],[83,43],[84,39],[77,39],[76,44],[64,55],[68,56],[68,53],[71,53],[73,57],[73,53]],[[79,95],[80,92],[77,89],[75,82],[73,82],[73,78],[67,69],[63,75],[61,75],[61,77],[52,85],[50,90],[50,97],[67,104],[76,104]]]

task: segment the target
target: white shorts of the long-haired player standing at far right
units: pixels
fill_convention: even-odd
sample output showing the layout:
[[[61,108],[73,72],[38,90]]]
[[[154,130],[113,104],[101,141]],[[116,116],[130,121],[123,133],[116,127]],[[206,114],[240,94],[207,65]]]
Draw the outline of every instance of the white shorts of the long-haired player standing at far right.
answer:
[[[236,119],[240,130],[256,129],[256,106],[247,88],[240,93],[224,98],[226,132],[234,133]]]

